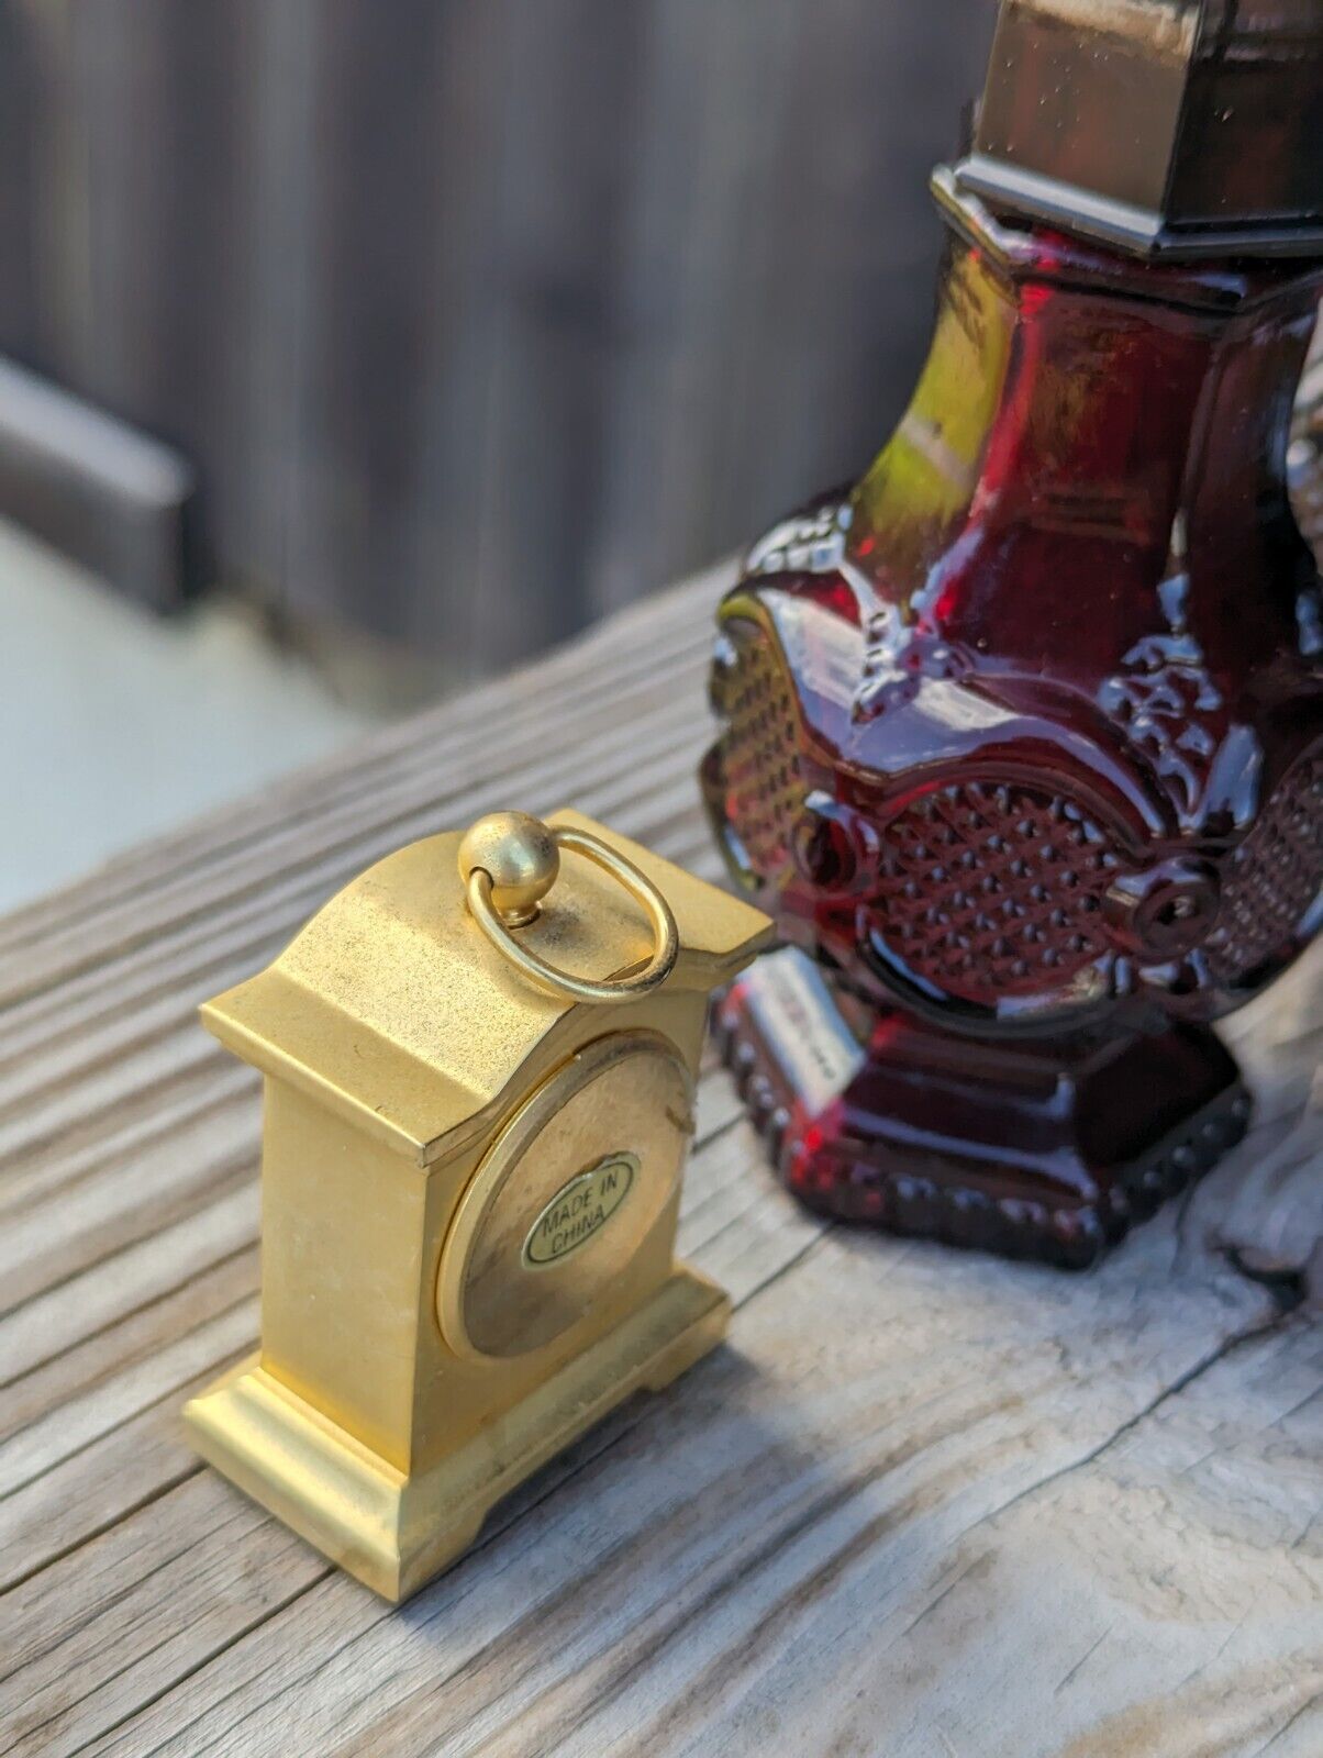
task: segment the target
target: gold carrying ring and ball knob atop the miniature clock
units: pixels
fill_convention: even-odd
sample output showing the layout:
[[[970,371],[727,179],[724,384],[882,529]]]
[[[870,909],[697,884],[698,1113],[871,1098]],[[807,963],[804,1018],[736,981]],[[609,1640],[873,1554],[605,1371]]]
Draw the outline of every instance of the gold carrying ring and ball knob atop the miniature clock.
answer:
[[[510,930],[537,918],[540,898],[559,874],[563,849],[610,874],[646,911],[653,926],[653,956],[642,970],[595,983],[558,970],[515,941]],[[459,872],[473,921],[530,983],[552,995],[595,1006],[637,1000],[665,983],[676,965],[679,932],[670,905],[633,861],[586,830],[552,830],[526,812],[493,812],[480,817],[459,844]]]

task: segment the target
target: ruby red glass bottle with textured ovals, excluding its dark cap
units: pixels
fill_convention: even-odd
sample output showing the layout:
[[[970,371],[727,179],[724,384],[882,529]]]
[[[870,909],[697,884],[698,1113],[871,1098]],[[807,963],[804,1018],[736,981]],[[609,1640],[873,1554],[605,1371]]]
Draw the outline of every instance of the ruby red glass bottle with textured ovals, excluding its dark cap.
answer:
[[[718,1034],[806,1202],[1084,1266],[1244,1132],[1210,1023],[1321,919],[1323,267],[934,186],[910,410],[720,612],[704,795],[788,949]]]

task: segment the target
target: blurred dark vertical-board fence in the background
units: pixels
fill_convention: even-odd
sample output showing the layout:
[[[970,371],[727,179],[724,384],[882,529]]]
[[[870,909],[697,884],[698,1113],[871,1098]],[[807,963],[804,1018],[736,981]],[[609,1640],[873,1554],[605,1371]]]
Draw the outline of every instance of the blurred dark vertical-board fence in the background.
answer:
[[[208,577],[496,665],[859,469],[992,0],[7,0],[0,350]]]

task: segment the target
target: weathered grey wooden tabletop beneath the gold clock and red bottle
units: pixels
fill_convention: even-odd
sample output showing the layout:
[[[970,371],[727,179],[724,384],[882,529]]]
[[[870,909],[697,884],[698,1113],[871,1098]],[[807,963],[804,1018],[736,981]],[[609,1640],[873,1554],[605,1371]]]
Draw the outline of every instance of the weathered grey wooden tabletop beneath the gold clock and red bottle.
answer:
[[[4,1751],[1323,1751],[1318,960],[1233,1021],[1247,1144],[1085,1278],[809,1218],[713,1069],[681,1246],[730,1345],[401,1610],[183,1445],[259,1280],[257,1090],[195,1004],[493,805],[716,875],[716,591],[0,923]]]

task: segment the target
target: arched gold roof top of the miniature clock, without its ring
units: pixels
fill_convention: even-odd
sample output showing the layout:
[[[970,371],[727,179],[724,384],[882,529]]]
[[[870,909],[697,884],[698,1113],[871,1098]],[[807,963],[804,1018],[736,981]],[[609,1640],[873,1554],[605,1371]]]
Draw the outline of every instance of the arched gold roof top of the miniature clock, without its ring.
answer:
[[[549,825],[591,830],[662,890],[676,916],[676,969],[653,995],[707,993],[771,939],[757,909],[579,812]],[[245,1062],[310,1092],[426,1166],[479,1134],[533,1051],[538,1078],[586,1014],[646,1023],[653,997],[586,1007],[544,993],[468,914],[459,832],[426,837],[331,898],[266,970],[202,1007]],[[566,854],[521,941],[575,976],[607,979],[651,955],[639,905],[600,868]]]

